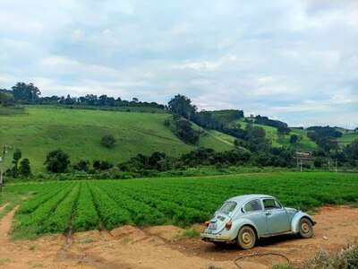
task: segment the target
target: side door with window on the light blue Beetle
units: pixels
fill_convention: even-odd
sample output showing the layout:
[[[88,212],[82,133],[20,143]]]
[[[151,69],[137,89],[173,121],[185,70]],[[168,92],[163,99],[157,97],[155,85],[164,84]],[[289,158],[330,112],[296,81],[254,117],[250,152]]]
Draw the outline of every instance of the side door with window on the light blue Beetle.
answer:
[[[268,234],[291,230],[286,209],[276,199],[263,199],[262,202],[268,223]]]

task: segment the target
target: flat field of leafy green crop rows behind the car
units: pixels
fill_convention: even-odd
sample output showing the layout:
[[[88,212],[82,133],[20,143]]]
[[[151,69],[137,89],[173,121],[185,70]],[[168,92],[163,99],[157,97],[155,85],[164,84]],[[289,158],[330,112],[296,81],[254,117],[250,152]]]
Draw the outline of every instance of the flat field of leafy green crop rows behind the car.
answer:
[[[15,231],[43,234],[67,230],[111,230],[174,224],[185,227],[209,219],[235,195],[268,194],[303,210],[323,204],[358,202],[354,174],[277,173],[213,178],[149,178],[20,184],[4,188],[31,194],[15,213]]]

